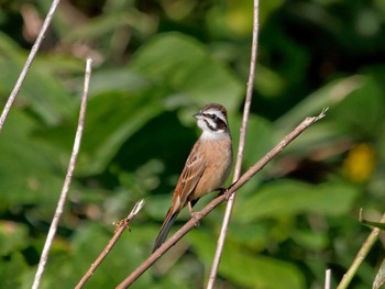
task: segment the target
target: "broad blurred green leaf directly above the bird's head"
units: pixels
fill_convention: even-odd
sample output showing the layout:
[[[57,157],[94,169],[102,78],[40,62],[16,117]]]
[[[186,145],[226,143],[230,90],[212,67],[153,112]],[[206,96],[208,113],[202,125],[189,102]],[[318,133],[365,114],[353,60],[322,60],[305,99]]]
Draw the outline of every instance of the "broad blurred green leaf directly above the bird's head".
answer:
[[[241,101],[242,84],[215,62],[202,44],[180,33],[154,37],[135,54],[131,67],[167,87],[170,107],[219,102],[232,111]]]

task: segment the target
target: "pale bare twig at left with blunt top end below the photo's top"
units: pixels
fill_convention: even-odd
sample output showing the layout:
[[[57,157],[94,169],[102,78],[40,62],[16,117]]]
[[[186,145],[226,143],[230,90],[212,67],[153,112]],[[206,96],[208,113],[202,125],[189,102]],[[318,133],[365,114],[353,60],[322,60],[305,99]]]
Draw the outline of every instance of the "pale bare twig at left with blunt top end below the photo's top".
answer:
[[[51,245],[52,245],[52,242],[53,242],[54,236],[56,234],[57,225],[58,225],[59,219],[61,219],[62,213],[63,213],[65,201],[67,199],[69,184],[72,181],[72,177],[74,174],[77,155],[79,153],[82,130],[84,130],[84,123],[85,123],[85,118],[86,118],[86,108],[87,108],[87,98],[88,98],[88,88],[89,88],[89,81],[90,81],[90,77],[91,77],[91,67],[92,67],[92,59],[88,58],[87,65],[86,65],[85,85],[84,85],[84,91],[82,91],[82,96],[81,96],[79,120],[78,120],[78,125],[77,125],[77,130],[76,130],[73,153],[72,153],[72,156],[69,159],[67,175],[66,175],[66,178],[65,178],[64,184],[63,184],[62,193],[61,193],[59,200],[57,202],[55,215],[52,220],[48,235],[47,235],[47,238],[45,241],[42,256],[41,256],[40,262],[38,262],[37,271],[35,275],[35,279],[33,281],[32,289],[38,288],[40,280],[42,278],[42,275],[43,275],[43,271],[45,268],[45,264],[47,263],[47,259],[48,259]]]

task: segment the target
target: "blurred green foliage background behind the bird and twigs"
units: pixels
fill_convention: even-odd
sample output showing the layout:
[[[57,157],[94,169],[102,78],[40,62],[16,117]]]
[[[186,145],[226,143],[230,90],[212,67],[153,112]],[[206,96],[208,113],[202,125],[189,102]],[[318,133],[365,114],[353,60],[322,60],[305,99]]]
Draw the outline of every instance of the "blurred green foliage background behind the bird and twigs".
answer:
[[[0,1],[3,108],[51,1]],[[0,133],[0,287],[30,288],[58,200],[95,59],[86,129],[41,288],[73,288],[146,204],[86,288],[112,288],[144,260],[199,135],[193,114],[227,107],[237,152],[249,76],[251,0],[63,0]],[[332,287],[385,198],[385,2],[260,3],[257,67],[243,169],[329,107],[237,197],[217,288]],[[211,200],[206,197],[196,205]],[[186,210],[187,211],[187,210]],[[224,204],[133,288],[202,288]],[[188,219],[179,215],[173,230]],[[350,288],[371,288],[377,242]]]

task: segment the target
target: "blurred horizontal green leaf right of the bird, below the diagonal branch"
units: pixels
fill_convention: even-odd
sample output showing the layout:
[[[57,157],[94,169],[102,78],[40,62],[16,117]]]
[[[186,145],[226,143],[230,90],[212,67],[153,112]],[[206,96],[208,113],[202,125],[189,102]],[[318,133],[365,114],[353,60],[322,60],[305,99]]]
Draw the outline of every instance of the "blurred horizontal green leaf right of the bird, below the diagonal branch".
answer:
[[[359,191],[345,184],[318,186],[300,181],[282,180],[261,187],[244,203],[239,203],[234,216],[243,222],[262,218],[316,212],[339,215],[349,211]]]

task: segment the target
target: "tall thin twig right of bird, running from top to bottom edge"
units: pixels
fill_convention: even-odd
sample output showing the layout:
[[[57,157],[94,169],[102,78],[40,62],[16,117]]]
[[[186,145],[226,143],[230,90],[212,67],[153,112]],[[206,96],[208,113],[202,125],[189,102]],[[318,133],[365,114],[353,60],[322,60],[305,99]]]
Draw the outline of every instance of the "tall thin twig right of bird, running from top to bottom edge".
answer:
[[[248,121],[249,121],[249,114],[250,114],[251,100],[253,97],[255,64],[256,64],[256,54],[257,54],[257,40],[258,40],[258,5],[260,5],[260,1],[254,0],[253,40],[252,40],[252,47],[251,47],[250,74],[249,74],[248,88],[246,88],[246,99],[243,108],[242,127],[241,127],[239,145],[238,145],[238,156],[237,156],[233,182],[235,182],[241,176],[244,143],[246,138],[246,127],[248,127]],[[229,198],[228,204],[226,207],[226,212],[223,215],[221,231],[218,237],[216,255],[213,257],[210,276],[207,284],[207,289],[212,289],[216,282],[218,267],[219,267],[219,263],[223,252],[224,240],[228,233],[231,212],[234,205],[234,200],[235,200],[235,194],[231,194]]]

